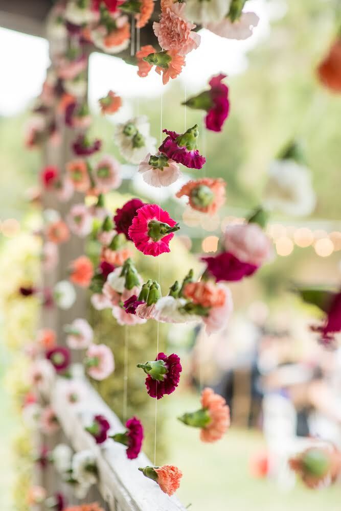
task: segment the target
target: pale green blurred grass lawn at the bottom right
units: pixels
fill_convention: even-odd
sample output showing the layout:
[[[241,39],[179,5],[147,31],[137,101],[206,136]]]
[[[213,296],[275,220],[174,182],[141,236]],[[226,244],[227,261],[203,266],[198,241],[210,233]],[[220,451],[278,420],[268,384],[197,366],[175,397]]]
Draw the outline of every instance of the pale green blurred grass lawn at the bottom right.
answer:
[[[195,396],[164,403],[169,411],[166,425],[171,453],[166,462],[183,471],[177,495],[185,506],[191,504],[191,511],[340,511],[339,486],[311,491],[297,484],[286,492],[274,481],[253,478],[248,459],[264,447],[258,432],[231,429],[220,442],[200,443],[197,430],[174,419],[195,410],[197,404]]]

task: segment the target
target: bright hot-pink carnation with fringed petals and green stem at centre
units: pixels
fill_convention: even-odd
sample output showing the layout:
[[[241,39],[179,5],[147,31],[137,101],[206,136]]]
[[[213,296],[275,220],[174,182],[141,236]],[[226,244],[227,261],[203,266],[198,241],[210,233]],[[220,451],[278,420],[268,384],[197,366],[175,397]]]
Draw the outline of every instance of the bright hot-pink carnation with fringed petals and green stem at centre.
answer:
[[[137,212],[129,227],[129,237],[145,255],[156,257],[170,252],[169,242],[179,227],[167,211],[156,204],[145,204]]]

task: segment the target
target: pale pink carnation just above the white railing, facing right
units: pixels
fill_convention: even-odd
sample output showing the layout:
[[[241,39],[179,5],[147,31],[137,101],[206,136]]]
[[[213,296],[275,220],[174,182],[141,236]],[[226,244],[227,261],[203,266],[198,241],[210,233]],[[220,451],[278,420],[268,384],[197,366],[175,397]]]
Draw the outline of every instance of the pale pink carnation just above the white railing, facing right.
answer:
[[[94,380],[104,380],[115,369],[112,351],[105,344],[90,344],[84,361],[87,374]]]

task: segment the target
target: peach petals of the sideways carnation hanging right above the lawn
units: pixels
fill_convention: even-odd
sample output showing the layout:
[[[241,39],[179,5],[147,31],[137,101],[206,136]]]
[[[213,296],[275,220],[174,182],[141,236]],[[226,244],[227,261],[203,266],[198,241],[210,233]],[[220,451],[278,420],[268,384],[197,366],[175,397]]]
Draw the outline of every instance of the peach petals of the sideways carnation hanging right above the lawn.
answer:
[[[211,388],[204,388],[201,393],[201,405],[210,415],[211,422],[201,429],[202,442],[216,442],[230,427],[230,408],[222,396]]]

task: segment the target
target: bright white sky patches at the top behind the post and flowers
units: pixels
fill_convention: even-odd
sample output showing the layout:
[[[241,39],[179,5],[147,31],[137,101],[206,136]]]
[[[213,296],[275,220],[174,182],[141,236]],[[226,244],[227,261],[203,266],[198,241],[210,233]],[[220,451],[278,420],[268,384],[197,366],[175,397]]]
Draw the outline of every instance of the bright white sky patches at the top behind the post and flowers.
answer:
[[[247,52],[260,39],[268,37],[270,21],[284,15],[286,2],[249,0],[247,10],[256,12],[260,22],[254,35],[246,41],[222,39],[206,30],[200,32],[200,47],[187,56],[187,65],[178,78],[189,92],[202,88],[207,77],[213,74],[242,73],[247,67]],[[40,92],[49,66],[48,42],[0,28],[0,48],[0,115],[15,115],[27,108]],[[95,53],[90,59],[90,105],[95,105],[109,89],[126,98],[134,98],[160,95],[162,87],[159,75],[152,72],[141,79],[136,68],[120,58]]]

